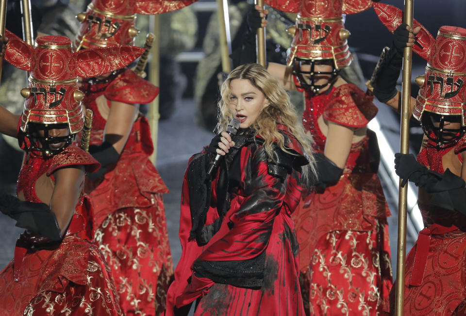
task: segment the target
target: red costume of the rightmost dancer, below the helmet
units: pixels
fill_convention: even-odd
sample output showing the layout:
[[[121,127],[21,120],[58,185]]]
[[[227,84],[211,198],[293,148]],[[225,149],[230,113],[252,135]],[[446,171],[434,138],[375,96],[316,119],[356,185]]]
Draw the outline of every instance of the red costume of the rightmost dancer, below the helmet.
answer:
[[[462,146],[460,142],[456,147]],[[451,150],[455,146],[437,149],[428,141],[417,160],[443,174],[443,158]],[[462,162],[461,154],[456,157]],[[466,216],[428,201],[429,195],[419,189],[418,205],[426,228],[406,257],[404,314],[466,315]],[[390,295],[394,304],[395,291]]]

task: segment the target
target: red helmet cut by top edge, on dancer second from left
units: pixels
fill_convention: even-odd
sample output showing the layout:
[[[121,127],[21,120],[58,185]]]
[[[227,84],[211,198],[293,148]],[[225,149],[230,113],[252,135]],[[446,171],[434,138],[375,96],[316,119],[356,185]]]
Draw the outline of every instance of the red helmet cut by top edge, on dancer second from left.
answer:
[[[76,18],[81,22],[76,37],[77,50],[89,47],[133,45],[139,33],[136,13],[144,15],[175,11],[197,0],[92,0],[87,11]]]

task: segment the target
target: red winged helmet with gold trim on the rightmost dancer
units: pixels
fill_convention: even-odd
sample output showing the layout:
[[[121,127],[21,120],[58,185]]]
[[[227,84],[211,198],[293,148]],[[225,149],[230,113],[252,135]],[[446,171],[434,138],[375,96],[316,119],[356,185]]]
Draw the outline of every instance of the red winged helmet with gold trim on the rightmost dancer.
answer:
[[[374,3],[374,10],[391,32],[402,23],[403,12],[396,7]],[[424,75],[416,78],[420,90],[413,116],[426,127],[430,123],[423,118],[425,112],[438,114],[440,120],[445,115],[454,115],[465,127],[466,29],[442,26],[434,39],[429,31],[414,20],[413,28],[417,26],[421,27],[416,35],[419,45],[413,46],[413,51],[427,60],[427,66]],[[450,116],[449,121],[452,119]]]

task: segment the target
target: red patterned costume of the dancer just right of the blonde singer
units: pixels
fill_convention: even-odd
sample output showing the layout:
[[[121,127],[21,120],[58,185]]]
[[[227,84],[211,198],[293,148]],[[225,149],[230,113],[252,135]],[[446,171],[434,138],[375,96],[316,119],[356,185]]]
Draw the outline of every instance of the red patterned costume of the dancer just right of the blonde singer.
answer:
[[[363,127],[377,108],[352,84],[306,96],[303,126],[323,152],[326,137],[317,120]],[[310,315],[365,315],[388,309],[392,285],[386,218],[390,216],[378,166],[375,135],[353,143],[334,186],[304,193],[292,214],[300,244],[301,288]],[[369,315],[367,314],[367,315]]]

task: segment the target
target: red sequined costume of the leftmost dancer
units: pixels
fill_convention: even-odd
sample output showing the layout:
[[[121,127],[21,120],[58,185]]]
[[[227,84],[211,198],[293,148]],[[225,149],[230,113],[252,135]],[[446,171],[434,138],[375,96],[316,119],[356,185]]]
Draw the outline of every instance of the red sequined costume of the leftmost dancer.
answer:
[[[27,154],[18,178],[17,192],[27,201],[41,201],[35,192],[39,177],[57,168],[72,165],[95,166],[97,161],[83,150],[69,145],[50,159]],[[52,177],[53,179],[53,177]],[[92,207],[82,197],[73,222],[83,225],[68,229],[67,237],[51,246],[25,246],[18,240],[15,258],[0,273],[2,315],[120,315],[117,293],[110,268],[92,238]],[[24,255],[16,256],[17,252]],[[17,273],[16,273],[17,272]],[[15,281],[15,277],[18,278]]]

